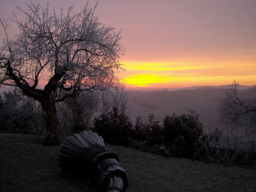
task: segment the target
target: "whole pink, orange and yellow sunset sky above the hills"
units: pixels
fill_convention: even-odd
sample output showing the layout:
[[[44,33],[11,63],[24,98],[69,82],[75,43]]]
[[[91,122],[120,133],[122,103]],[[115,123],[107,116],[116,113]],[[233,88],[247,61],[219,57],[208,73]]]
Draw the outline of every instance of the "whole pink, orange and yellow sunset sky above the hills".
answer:
[[[78,12],[86,2],[49,5],[58,10],[74,3]],[[13,18],[15,5],[26,3],[0,0],[0,17]],[[256,0],[99,0],[95,15],[122,29],[126,72],[118,76],[128,89],[224,85],[234,78],[256,84]]]

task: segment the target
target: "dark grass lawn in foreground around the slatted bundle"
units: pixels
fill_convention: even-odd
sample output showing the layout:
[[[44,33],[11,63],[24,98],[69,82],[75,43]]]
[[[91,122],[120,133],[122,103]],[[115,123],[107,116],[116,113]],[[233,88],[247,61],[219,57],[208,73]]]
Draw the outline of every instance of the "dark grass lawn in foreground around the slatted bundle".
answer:
[[[58,167],[58,146],[44,136],[0,134],[0,191],[98,192],[81,177]],[[255,192],[256,170],[166,158],[115,145],[129,179],[126,192]]]

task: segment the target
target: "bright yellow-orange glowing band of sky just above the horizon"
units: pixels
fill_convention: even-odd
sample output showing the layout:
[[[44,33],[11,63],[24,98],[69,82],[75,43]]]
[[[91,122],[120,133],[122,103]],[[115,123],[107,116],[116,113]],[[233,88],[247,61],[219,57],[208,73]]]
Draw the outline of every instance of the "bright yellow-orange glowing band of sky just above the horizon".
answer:
[[[172,88],[232,84],[254,85],[256,65],[253,63],[145,63],[126,62],[120,77],[127,87]]]

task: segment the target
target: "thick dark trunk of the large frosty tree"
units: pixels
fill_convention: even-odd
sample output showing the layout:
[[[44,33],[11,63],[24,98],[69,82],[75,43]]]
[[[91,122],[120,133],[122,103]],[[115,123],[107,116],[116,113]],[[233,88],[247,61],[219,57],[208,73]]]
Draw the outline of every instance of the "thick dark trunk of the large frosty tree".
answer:
[[[47,115],[44,145],[59,145],[60,140],[58,137],[58,120],[55,101],[47,99],[47,101],[41,103],[41,105]]]

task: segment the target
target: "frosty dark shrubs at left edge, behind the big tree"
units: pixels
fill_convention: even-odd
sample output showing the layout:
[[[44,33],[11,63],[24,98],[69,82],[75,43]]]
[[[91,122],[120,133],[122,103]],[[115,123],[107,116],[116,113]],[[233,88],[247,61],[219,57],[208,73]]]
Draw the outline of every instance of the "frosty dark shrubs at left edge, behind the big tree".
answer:
[[[0,96],[0,132],[18,134],[43,134],[44,112],[33,99],[15,88]]]

